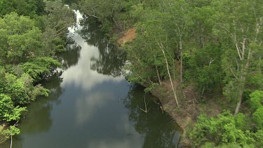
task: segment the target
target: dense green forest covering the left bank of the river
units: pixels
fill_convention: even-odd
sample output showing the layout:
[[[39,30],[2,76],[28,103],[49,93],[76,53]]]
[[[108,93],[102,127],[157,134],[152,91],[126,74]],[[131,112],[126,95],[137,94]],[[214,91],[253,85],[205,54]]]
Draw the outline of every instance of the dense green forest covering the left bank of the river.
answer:
[[[49,90],[40,81],[60,67],[74,11],[62,1],[0,1],[0,143],[20,133],[27,105]]]

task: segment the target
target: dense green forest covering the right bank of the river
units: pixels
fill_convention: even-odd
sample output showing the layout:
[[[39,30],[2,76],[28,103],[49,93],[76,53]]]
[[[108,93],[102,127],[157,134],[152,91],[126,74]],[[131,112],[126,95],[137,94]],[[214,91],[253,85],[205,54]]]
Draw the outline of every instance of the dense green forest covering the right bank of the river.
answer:
[[[263,147],[262,1],[81,0],[79,9],[114,40],[136,30],[121,48],[129,81],[169,91],[179,114],[194,88],[191,147]]]

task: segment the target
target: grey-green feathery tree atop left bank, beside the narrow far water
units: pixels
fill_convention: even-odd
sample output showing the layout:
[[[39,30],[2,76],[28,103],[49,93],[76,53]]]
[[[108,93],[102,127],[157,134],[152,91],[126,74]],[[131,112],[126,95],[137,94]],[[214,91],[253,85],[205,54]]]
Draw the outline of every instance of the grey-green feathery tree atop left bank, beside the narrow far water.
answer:
[[[74,11],[62,1],[46,1],[46,15],[42,16],[43,35],[46,53],[65,51],[66,31],[76,24]]]

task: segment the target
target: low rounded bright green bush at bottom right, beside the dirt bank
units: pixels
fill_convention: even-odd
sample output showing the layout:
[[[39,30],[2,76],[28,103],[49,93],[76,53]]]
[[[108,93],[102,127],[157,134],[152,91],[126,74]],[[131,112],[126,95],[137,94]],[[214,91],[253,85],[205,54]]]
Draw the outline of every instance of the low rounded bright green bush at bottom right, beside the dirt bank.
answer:
[[[200,115],[190,137],[195,146],[199,146],[203,142],[249,144],[252,141],[251,137],[243,130],[238,129],[240,126],[236,126],[238,123],[229,112],[218,114],[213,118]]]

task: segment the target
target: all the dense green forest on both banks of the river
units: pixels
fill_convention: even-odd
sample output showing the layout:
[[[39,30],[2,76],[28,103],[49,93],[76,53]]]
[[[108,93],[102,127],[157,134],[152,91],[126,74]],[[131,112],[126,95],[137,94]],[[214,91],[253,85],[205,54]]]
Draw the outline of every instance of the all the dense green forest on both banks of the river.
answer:
[[[172,100],[170,114],[190,116],[182,142],[263,147],[260,0],[1,0],[1,141],[20,133],[15,125],[29,102],[48,96],[40,81],[60,66],[55,53],[65,50],[75,22],[64,3],[100,21],[112,41],[135,30],[120,47],[128,58],[123,74]]]

